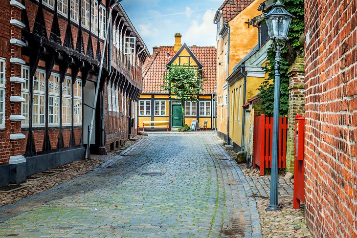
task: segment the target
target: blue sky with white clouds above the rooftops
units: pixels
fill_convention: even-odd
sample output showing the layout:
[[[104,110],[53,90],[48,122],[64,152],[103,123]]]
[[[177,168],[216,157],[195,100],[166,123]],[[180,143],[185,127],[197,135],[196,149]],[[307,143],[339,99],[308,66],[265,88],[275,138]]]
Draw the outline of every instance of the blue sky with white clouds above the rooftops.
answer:
[[[224,0],[123,0],[121,2],[136,30],[153,46],[174,45],[175,33],[182,43],[216,46],[213,18]]]

